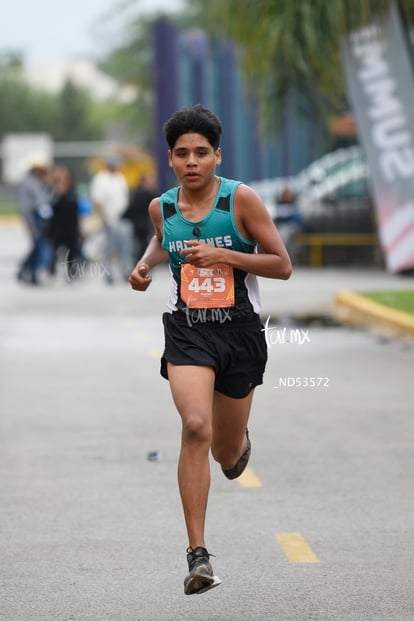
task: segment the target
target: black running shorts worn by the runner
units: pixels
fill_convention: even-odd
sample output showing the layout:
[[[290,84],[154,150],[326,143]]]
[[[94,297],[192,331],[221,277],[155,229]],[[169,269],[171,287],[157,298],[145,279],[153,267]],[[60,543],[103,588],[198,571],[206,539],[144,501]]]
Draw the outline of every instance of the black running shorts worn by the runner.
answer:
[[[212,367],[214,388],[234,399],[246,397],[263,383],[267,345],[258,316],[225,324],[189,325],[181,313],[164,313],[165,349],[161,375],[168,379],[167,362],[178,366]]]

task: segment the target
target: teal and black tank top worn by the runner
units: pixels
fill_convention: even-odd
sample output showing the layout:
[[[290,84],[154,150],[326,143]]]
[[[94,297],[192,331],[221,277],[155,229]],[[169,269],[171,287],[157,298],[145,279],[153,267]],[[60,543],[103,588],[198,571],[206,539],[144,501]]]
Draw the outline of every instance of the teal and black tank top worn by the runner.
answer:
[[[179,187],[171,188],[160,197],[162,247],[168,252],[171,273],[168,308],[182,314],[189,323],[222,324],[252,318],[260,310],[259,290],[254,274],[233,270],[224,264],[213,271],[197,272],[197,268],[191,269],[188,264],[183,265],[186,261],[180,256],[185,240],[188,239],[198,239],[212,246],[239,252],[257,252],[257,244],[241,235],[234,219],[234,194],[241,182],[223,177],[219,180],[220,186],[214,205],[198,222],[191,222],[181,214],[178,208]],[[187,269],[191,272],[188,278]],[[230,282],[234,282],[233,291],[225,290],[227,280],[225,282],[224,276],[227,270],[232,273]],[[204,302],[210,295],[213,296],[212,299]],[[224,303],[223,296],[227,300]],[[193,301],[194,298],[196,302]],[[220,302],[215,306],[216,299]]]

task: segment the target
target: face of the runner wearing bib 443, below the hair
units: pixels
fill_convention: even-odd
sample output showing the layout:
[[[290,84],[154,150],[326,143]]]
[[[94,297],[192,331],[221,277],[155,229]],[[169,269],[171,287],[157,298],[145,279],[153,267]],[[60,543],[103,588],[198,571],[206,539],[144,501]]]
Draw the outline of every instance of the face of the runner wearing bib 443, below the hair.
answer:
[[[201,134],[183,134],[168,151],[168,161],[183,186],[199,190],[213,179],[216,166],[221,163],[221,150],[215,151]]]

